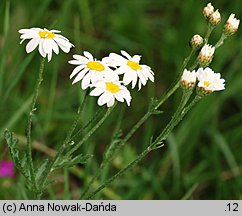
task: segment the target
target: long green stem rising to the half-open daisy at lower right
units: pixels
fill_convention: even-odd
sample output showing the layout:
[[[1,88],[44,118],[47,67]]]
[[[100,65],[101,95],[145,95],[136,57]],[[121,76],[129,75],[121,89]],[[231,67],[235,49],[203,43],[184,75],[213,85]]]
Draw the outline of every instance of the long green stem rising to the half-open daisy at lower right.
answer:
[[[160,143],[167,133],[165,131],[171,131],[186,115],[186,113],[201,99],[200,96],[196,96],[194,100],[185,108],[180,110],[180,115],[175,114],[175,116],[179,116],[179,118],[176,119],[175,123],[169,123],[169,128],[166,128],[164,131],[161,132],[161,134],[156,138],[154,142],[152,142],[148,148],[146,148],[142,153],[138,155],[131,163],[129,163],[125,168],[120,170],[118,173],[116,173],[114,176],[109,178],[107,181],[105,181],[100,187],[98,187],[94,192],[92,192],[87,199],[91,199],[94,197],[98,192],[100,192],[103,188],[105,188],[107,185],[111,184],[114,180],[121,177],[126,171],[130,170],[134,165],[136,165],[138,162],[140,162],[150,151],[154,149],[154,147]],[[186,97],[183,98],[180,106],[182,107],[184,103],[186,103],[186,100],[188,100]],[[171,120],[171,122],[174,121],[174,118]]]

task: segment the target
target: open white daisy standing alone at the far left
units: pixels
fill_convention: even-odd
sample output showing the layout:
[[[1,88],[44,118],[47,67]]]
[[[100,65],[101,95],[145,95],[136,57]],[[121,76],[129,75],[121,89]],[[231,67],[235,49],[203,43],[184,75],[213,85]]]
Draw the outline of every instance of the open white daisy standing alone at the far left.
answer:
[[[52,51],[59,54],[59,47],[68,53],[74,45],[69,42],[69,40],[62,35],[58,34],[61,31],[58,30],[48,30],[46,28],[30,28],[30,29],[20,29],[18,31],[20,34],[21,43],[26,39],[30,39],[26,46],[26,52],[32,52],[37,46],[39,46],[39,53],[44,58],[48,57],[48,62],[52,58]]]

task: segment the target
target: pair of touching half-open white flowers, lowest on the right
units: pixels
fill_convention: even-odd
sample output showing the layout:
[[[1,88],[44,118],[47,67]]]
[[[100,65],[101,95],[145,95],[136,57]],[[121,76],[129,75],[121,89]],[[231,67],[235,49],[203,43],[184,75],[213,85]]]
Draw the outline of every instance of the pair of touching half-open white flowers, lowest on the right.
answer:
[[[196,72],[184,70],[181,77],[181,86],[184,89],[193,89],[197,83],[198,94],[201,96],[210,94],[214,91],[221,91],[225,89],[225,80],[221,78],[220,73],[214,73],[214,71],[209,68],[199,68]]]

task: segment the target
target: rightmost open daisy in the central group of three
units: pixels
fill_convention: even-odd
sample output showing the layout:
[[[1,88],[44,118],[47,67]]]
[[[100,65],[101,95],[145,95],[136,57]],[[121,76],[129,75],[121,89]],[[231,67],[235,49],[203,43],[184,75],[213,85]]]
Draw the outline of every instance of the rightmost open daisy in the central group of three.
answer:
[[[139,90],[142,85],[146,85],[148,80],[154,82],[154,73],[151,68],[147,65],[139,64],[141,56],[134,55],[131,57],[127,52],[121,51],[121,55],[116,53],[110,53],[109,57],[106,57],[106,61],[110,62],[112,65],[119,66],[115,70],[117,74],[124,74],[123,83],[128,85],[132,82],[132,88],[135,87],[137,81],[139,80],[138,87]]]

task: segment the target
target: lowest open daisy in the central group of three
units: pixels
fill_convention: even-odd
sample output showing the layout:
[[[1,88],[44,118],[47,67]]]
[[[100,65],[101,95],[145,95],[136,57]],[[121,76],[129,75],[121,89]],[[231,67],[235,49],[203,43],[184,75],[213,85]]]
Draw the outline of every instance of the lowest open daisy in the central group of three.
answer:
[[[101,80],[96,82],[93,87],[95,88],[90,95],[100,96],[97,101],[99,106],[107,104],[107,107],[111,107],[114,105],[115,100],[119,102],[126,101],[127,105],[130,106],[130,92],[121,84],[121,81],[112,79]]]

